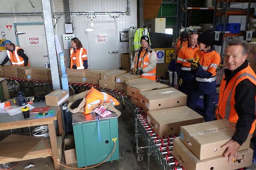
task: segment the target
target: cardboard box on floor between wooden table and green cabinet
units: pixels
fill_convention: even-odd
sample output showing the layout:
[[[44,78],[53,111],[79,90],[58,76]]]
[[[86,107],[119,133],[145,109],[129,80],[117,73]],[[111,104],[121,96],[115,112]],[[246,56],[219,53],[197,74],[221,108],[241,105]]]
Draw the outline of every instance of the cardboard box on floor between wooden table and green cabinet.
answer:
[[[67,165],[77,162],[74,137],[64,139],[64,156]]]

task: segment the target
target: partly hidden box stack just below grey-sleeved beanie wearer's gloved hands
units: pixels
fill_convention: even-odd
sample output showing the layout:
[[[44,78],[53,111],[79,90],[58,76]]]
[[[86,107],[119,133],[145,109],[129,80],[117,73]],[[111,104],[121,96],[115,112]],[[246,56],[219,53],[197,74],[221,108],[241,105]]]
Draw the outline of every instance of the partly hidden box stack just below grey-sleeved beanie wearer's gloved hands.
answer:
[[[127,85],[125,84],[126,81],[132,80],[132,79],[139,79],[141,78],[141,75],[133,75],[130,73],[122,74],[120,76],[116,77],[116,90],[123,91],[125,94],[127,94]]]

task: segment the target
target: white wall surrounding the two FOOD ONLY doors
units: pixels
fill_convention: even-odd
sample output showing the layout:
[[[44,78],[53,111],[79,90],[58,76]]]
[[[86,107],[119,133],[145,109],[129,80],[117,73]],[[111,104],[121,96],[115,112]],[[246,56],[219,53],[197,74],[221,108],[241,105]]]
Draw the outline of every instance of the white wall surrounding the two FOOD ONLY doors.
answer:
[[[30,0],[35,6],[33,8],[29,1],[27,0],[1,0],[1,3],[4,4],[0,6],[0,13],[26,13],[26,12],[42,12],[41,0]],[[52,0],[52,12],[64,12],[63,0]],[[69,0],[70,3],[70,12],[88,12],[88,11],[126,11],[126,0]],[[56,18],[58,15],[56,15]],[[87,16],[72,16],[70,17],[71,22],[73,23],[74,34],[76,37],[81,40],[81,43],[85,47],[86,43],[86,34],[84,23],[90,21],[90,18]],[[96,15],[96,18],[93,18],[93,21],[112,21],[113,17],[109,15],[99,16]],[[130,13],[128,15],[120,15],[116,17],[117,20],[117,29],[118,36],[119,31],[128,31],[131,26],[137,27],[137,0],[130,0]],[[53,19],[53,25],[55,24],[55,19]],[[33,23],[33,22],[44,22],[40,17],[0,17],[0,32],[6,32],[6,39],[11,40],[16,43],[15,31],[13,23]],[[63,48],[62,34],[65,34],[64,29],[65,17],[61,16],[58,19],[56,27],[54,28],[55,34],[58,34],[58,38]],[[12,25],[12,29],[9,31],[6,28],[6,25]],[[1,37],[0,37],[1,39]],[[119,59],[120,54],[128,52],[123,48],[123,45],[127,45],[128,42],[122,42],[125,44],[119,43]],[[122,46],[122,48],[120,48]],[[126,47],[126,46],[125,46]],[[66,57],[67,65],[69,65],[69,50],[64,50]],[[6,51],[0,51],[0,63],[6,57]],[[29,56],[31,57],[31,56]],[[120,66],[120,62],[119,62]]]

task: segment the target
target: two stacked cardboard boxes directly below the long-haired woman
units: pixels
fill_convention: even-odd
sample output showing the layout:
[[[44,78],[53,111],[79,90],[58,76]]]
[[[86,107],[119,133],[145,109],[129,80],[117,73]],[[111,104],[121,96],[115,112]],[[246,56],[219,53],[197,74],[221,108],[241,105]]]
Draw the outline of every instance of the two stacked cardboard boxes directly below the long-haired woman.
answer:
[[[67,68],[67,79],[69,83],[85,83],[85,72],[87,69]]]

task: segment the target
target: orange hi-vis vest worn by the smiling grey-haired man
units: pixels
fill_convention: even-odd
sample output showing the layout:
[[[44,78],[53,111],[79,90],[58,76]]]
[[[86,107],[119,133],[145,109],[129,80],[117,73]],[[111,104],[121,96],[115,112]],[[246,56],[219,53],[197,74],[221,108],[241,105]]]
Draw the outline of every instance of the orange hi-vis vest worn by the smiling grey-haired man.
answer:
[[[236,123],[239,119],[235,109],[235,91],[236,86],[244,79],[249,79],[254,85],[256,85],[256,74],[250,65],[247,68],[239,71],[228,83],[226,87],[226,81],[223,76],[221,80],[220,94],[218,100],[218,108],[216,110],[217,119],[227,119],[230,122]],[[226,89],[225,89],[226,87]],[[255,98],[256,101],[256,98]],[[253,122],[250,134],[255,130],[256,120]]]

